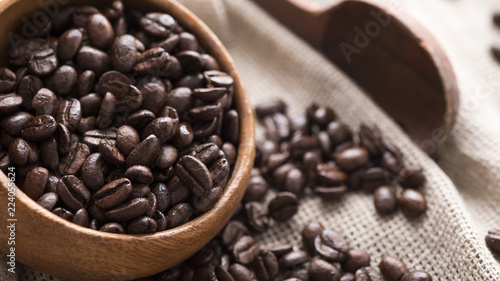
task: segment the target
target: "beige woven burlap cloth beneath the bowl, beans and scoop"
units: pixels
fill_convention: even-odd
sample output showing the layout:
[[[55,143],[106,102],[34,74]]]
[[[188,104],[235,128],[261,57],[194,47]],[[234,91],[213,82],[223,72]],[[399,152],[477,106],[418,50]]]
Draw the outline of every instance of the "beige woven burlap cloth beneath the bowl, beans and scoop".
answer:
[[[417,221],[400,212],[381,218],[373,197],[363,193],[349,193],[333,204],[308,196],[292,220],[273,222],[259,237],[264,246],[300,245],[303,225],[319,220],[346,235],[352,247],[368,250],[373,266],[390,253],[410,269],[430,272],[434,280],[500,280],[500,265],[484,244],[487,230],[500,226],[500,65],[488,50],[500,37],[491,23],[497,1],[388,1],[431,31],[457,74],[462,104],[452,134],[436,151],[437,164],[346,75],[251,1],[181,2],[222,39],[254,104],[281,97],[290,113],[300,114],[316,101],[332,106],[355,128],[361,121],[376,120],[386,141],[405,152],[407,163],[425,167],[428,182],[423,191],[429,209]],[[4,267],[2,261],[0,269]],[[57,280],[19,264],[18,269],[18,276],[0,271],[0,279]]]

